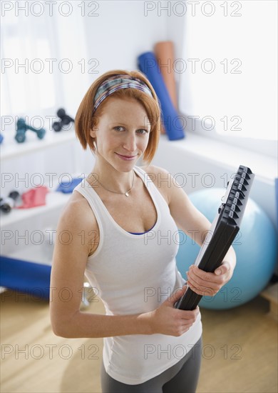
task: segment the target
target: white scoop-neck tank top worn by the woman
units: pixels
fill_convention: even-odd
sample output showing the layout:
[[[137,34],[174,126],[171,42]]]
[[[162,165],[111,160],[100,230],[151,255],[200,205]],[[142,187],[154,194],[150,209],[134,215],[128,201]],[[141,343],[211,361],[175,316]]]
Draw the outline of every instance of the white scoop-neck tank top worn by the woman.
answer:
[[[88,257],[85,273],[108,315],[150,312],[185,282],[176,267],[178,229],[168,204],[145,171],[138,166],[134,170],[148,189],[157,212],[154,227],[144,234],[131,234],[121,228],[86,179],[75,188],[87,199],[98,222],[100,242],[96,252]],[[193,326],[180,337],[165,334],[105,337],[105,371],[124,384],[141,384],[179,362],[201,334],[199,314]]]

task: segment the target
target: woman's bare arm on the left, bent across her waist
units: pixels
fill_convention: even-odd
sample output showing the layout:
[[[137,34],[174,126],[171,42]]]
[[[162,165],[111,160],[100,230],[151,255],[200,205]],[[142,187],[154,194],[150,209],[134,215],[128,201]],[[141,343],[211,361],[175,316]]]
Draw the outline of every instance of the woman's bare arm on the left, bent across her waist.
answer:
[[[173,308],[185,288],[153,312],[110,316],[80,311],[84,272],[91,244],[98,242],[96,234],[98,225],[86,199],[68,204],[58,223],[51,269],[53,332],[67,338],[154,333],[178,336],[186,332],[198,310],[185,312]]]

